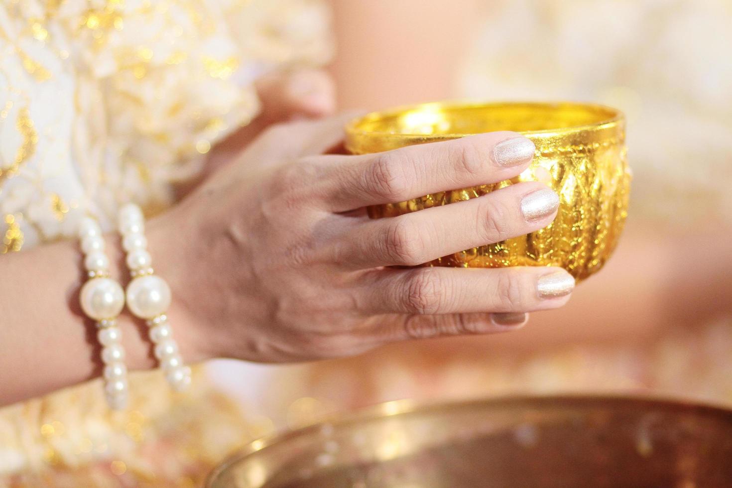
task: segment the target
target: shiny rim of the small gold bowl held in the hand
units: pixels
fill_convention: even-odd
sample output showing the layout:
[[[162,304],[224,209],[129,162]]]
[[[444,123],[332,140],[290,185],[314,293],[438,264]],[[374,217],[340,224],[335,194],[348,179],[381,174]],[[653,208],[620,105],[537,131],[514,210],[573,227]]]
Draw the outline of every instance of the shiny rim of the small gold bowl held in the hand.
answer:
[[[408,146],[415,143],[436,142],[438,140],[449,140],[475,135],[479,132],[437,132],[432,134],[420,134],[416,132],[395,132],[388,127],[394,127],[393,123],[397,118],[409,112],[420,110],[432,110],[435,112],[456,112],[469,110],[534,110],[539,113],[558,113],[561,110],[581,110],[588,115],[595,115],[596,119],[585,124],[568,125],[566,127],[548,127],[546,129],[516,130],[534,140],[544,138],[572,138],[575,135],[583,135],[589,132],[615,132],[616,129],[624,128],[624,114],[621,110],[586,102],[476,102],[476,101],[448,101],[448,102],[427,102],[415,105],[402,105],[386,110],[378,110],[367,113],[346,124],[346,149],[356,154],[369,152],[368,147],[373,146],[376,141],[381,141],[383,146],[391,146],[389,141],[399,141],[399,146]],[[381,124],[384,129],[366,129],[366,125]],[[378,127],[378,126],[377,126]],[[501,130],[496,127],[492,130]],[[489,132],[489,131],[485,131]]]

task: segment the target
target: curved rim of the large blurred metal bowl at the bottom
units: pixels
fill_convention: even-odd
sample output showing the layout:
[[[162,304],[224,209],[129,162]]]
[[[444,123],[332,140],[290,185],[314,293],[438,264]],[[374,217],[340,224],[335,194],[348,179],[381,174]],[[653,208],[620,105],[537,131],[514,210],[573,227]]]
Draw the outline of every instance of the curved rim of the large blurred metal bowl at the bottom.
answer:
[[[597,394],[519,394],[479,399],[463,399],[458,401],[416,401],[413,399],[399,399],[391,402],[378,403],[365,408],[324,416],[313,424],[299,429],[276,432],[263,438],[253,440],[231,454],[220,465],[214,468],[206,477],[206,487],[212,487],[216,478],[243,459],[256,454],[258,451],[299,438],[303,435],[316,433],[328,426],[332,429],[342,429],[354,424],[376,421],[380,418],[411,414],[441,413],[447,410],[464,408],[511,408],[512,406],[535,405],[537,407],[585,407],[609,406],[621,408],[623,406],[644,408],[647,410],[665,410],[678,413],[698,413],[703,416],[717,416],[732,421],[732,409],[721,402],[714,403],[696,399],[673,397],[664,394],[632,394],[632,393],[597,393]]]

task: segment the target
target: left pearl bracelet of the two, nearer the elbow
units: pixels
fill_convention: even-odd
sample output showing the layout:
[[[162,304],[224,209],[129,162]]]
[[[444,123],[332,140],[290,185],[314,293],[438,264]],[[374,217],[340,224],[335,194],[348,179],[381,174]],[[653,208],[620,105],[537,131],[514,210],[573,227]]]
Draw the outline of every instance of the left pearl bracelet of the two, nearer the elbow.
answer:
[[[127,406],[127,367],[124,366],[122,331],[116,318],[124,307],[124,291],[109,277],[109,258],[104,252],[102,229],[91,217],[84,217],[79,226],[79,239],[84,252],[84,268],[89,279],[81,287],[81,309],[97,321],[97,338],[102,344],[105,397],[109,406],[121,410]]]

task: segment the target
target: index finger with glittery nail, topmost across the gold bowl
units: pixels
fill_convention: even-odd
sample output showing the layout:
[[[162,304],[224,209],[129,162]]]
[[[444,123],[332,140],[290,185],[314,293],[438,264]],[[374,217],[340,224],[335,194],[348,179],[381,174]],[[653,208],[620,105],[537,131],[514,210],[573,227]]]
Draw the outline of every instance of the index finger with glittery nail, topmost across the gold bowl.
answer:
[[[491,132],[341,159],[327,176],[332,210],[396,203],[435,192],[518,176],[534,143],[516,132]]]

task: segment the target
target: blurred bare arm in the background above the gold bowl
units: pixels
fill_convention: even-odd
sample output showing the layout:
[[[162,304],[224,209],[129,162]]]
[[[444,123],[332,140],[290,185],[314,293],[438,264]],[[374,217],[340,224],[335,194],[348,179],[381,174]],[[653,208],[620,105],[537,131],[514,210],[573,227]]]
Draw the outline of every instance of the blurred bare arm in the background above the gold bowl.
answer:
[[[340,108],[381,108],[453,97],[475,0],[334,0]]]

